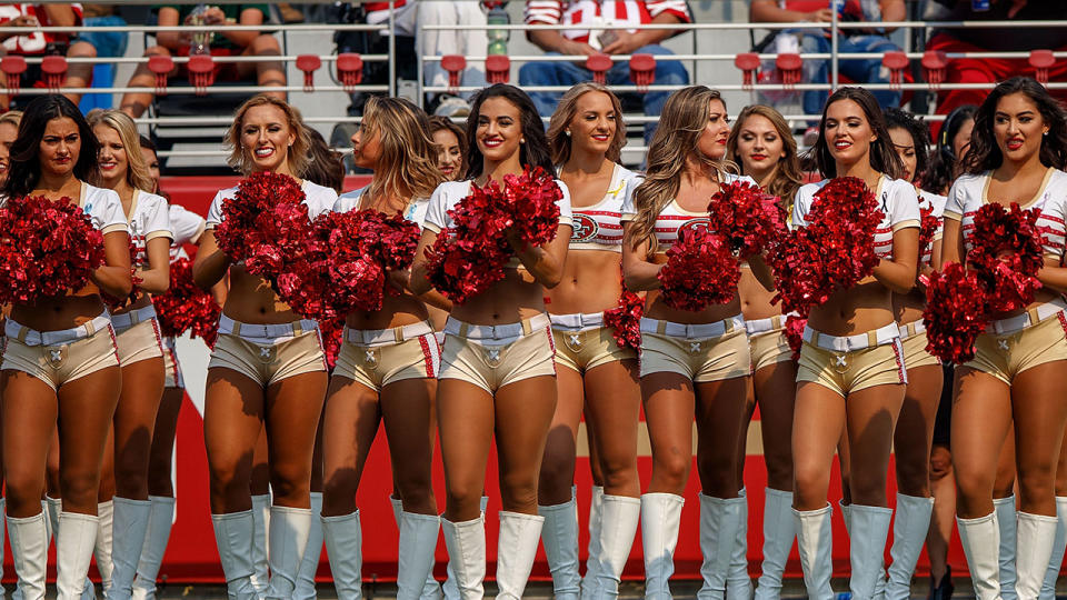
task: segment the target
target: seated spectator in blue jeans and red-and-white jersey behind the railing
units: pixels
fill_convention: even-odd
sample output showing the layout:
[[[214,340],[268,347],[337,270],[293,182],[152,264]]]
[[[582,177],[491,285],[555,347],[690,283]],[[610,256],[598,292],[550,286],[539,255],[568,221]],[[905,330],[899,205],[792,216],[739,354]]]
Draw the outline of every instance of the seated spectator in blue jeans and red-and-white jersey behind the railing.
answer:
[[[669,29],[635,29],[636,26],[657,23],[688,23],[692,18],[685,0],[527,0],[527,24],[554,24],[559,29],[528,31],[527,39],[549,56],[571,54],[658,54],[670,56],[659,42],[677,31]],[[519,86],[574,86],[592,79],[592,73],[580,62],[528,62],[519,69]],[[634,84],[626,61],[616,62],[607,73],[611,86]],[[656,61],[657,86],[687,86],[689,73],[677,60]],[[562,92],[530,91],[542,117],[556,111]],[[658,116],[669,91],[645,93],[645,114]],[[656,131],[656,123],[645,126],[645,142]]]

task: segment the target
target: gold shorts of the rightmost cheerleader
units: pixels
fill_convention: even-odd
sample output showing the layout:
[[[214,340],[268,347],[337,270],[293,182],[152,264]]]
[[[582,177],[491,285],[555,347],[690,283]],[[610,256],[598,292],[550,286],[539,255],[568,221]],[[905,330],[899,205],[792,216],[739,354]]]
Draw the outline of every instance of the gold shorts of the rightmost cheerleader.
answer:
[[[1055,310],[1058,306],[1059,302],[1049,302],[1019,317],[994,322],[978,334],[975,358],[963,366],[1010,386],[1015,376],[1027,369],[1067,359],[1067,316],[1061,309]],[[996,333],[998,329],[1000,332]]]

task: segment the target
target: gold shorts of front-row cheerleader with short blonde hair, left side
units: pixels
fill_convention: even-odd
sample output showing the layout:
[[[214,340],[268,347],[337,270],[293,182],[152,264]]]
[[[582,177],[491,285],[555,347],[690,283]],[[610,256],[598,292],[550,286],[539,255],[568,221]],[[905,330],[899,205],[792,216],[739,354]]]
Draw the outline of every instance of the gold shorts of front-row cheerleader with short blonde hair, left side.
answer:
[[[208,369],[237,371],[268,387],[293,376],[326,371],[326,352],[315,321],[280,324],[239,323],[219,319],[219,339]]]

